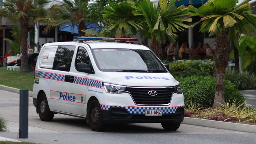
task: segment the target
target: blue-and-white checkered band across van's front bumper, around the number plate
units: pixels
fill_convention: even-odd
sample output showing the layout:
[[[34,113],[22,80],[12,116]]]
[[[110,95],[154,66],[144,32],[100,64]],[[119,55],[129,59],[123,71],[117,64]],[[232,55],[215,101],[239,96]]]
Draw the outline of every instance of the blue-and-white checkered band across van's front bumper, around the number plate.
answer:
[[[130,107],[130,106],[114,106],[114,105],[100,105],[102,110],[109,110],[110,107],[122,107],[130,114],[145,114],[147,109],[160,109],[163,114],[175,113],[178,107]]]

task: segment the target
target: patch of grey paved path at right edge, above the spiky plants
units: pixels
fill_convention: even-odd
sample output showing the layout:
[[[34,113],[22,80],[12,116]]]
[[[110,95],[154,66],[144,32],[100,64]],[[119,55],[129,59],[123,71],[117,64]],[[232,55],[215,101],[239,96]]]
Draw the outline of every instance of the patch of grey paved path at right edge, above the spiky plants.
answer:
[[[249,106],[256,107],[256,90],[240,90]]]

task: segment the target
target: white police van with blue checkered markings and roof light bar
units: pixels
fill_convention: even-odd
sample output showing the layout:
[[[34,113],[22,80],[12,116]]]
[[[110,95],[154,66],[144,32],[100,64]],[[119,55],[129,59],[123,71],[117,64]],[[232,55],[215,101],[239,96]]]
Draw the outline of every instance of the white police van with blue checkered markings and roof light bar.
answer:
[[[74,37],[73,42],[43,46],[33,85],[41,120],[60,113],[86,118],[93,131],[109,123],[161,123],[165,130],[178,129],[184,96],[169,66],[146,46],[114,41],[137,39]]]

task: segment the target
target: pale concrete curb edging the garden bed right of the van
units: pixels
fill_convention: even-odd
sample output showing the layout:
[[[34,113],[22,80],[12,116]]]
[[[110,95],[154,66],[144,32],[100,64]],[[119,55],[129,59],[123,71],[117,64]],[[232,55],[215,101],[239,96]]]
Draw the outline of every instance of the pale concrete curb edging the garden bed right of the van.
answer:
[[[182,124],[189,124],[194,126],[212,127],[217,129],[228,129],[232,131],[243,131],[249,133],[256,133],[256,126],[249,124],[238,124],[233,122],[221,122],[215,120],[205,120],[200,118],[184,117]]]

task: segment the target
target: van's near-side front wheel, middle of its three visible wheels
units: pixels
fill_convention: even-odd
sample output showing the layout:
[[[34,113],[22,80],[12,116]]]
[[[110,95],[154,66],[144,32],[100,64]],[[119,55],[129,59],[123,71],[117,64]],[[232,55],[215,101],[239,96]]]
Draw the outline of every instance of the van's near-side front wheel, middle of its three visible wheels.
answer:
[[[89,103],[88,122],[93,131],[104,131],[105,124],[103,122],[102,110],[100,103],[97,100],[92,100]]]

